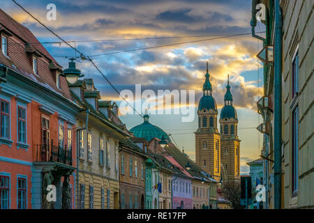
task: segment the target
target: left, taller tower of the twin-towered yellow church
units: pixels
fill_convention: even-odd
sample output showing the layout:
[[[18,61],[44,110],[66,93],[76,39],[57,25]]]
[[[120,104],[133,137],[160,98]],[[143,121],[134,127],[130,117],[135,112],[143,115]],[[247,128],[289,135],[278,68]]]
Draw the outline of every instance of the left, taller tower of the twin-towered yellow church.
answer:
[[[217,128],[217,105],[212,96],[209,81],[208,62],[203,96],[200,99],[197,116],[198,128],[195,132],[195,161],[199,167],[220,180],[220,133]]]

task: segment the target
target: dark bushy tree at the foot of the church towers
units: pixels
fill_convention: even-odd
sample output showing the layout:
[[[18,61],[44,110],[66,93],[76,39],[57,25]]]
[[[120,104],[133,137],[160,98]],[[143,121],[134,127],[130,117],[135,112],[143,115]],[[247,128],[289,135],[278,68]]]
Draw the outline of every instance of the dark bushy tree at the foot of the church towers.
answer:
[[[223,197],[230,201],[233,209],[243,209],[241,206],[241,186],[239,183],[225,183]]]

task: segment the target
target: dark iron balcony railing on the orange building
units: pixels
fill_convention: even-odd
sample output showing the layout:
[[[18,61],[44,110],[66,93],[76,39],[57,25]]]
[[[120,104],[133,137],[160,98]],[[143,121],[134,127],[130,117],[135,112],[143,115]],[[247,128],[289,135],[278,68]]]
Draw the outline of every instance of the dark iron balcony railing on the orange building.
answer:
[[[67,146],[55,146],[53,141],[51,144],[35,145],[36,162],[60,162],[72,166],[72,148]]]

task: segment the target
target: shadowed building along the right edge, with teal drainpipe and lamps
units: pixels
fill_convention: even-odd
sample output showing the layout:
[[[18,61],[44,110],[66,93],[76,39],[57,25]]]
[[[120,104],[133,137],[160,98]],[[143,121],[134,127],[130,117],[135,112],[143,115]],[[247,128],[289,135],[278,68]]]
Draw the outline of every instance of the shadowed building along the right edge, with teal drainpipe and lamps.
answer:
[[[255,35],[256,4],[267,7],[266,37]],[[253,1],[252,34],[274,47],[264,61],[265,208],[313,208],[313,1]],[[270,48],[271,49],[271,48]]]

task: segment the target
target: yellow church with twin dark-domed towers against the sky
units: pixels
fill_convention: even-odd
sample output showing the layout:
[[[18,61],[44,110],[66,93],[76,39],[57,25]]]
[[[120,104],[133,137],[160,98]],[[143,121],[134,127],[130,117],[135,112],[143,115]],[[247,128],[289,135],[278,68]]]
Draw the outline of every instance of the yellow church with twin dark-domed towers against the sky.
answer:
[[[197,109],[195,160],[196,164],[211,174],[215,180],[234,183],[240,176],[240,140],[237,135],[238,118],[237,111],[232,105],[229,75],[225,105],[220,112],[220,132],[217,125],[218,109],[209,77],[207,62],[203,96]]]

